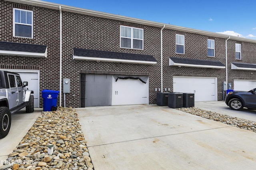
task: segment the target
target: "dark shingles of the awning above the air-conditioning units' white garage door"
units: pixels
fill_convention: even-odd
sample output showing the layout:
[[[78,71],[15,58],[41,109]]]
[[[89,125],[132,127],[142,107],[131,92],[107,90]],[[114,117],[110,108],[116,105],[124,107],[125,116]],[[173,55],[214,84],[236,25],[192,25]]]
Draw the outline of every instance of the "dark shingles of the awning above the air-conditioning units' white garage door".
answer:
[[[208,65],[208,66],[225,66],[220,61],[215,60],[202,60],[202,59],[188,59],[181,57],[170,57],[174,63],[180,64],[193,64],[193,65]]]

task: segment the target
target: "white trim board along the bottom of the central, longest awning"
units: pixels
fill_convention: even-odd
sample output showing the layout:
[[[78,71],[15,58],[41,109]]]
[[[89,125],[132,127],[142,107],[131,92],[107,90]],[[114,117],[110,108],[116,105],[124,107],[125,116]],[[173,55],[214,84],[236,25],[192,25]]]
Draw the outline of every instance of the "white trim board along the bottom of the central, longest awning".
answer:
[[[98,57],[82,57],[82,56],[76,56],[76,55],[73,55],[73,60],[91,60],[91,61],[106,61],[106,62],[117,62],[117,63],[137,63],[137,64],[156,64],[155,61],[108,59],[108,58],[98,58]]]

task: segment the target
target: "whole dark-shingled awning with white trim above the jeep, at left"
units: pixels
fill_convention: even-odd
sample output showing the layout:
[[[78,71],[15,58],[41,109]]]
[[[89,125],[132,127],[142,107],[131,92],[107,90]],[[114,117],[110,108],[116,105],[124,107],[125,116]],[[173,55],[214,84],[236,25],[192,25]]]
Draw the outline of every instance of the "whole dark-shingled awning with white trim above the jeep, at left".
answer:
[[[47,57],[46,45],[0,41],[0,55]]]

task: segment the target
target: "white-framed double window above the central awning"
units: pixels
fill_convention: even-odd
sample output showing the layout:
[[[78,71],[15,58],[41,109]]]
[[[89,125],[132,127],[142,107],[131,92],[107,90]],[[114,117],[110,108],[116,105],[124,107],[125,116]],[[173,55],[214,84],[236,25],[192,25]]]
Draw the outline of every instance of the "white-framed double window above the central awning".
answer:
[[[120,46],[129,49],[143,49],[143,29],[120,26]]]

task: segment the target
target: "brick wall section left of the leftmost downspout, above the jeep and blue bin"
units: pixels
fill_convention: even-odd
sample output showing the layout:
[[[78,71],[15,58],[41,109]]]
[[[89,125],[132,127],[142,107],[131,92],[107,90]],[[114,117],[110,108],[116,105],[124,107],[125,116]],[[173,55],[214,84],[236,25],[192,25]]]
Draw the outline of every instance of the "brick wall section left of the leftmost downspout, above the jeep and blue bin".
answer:
[[[13,37],[13,8],[33,10],[33,39]],[[59,89],[59,11],[0,0],[0,41],[47,45],[47,58],[0,56],[0,69],[40,71],[40,92]],[[42,98],[40,93],[40,107]]]

